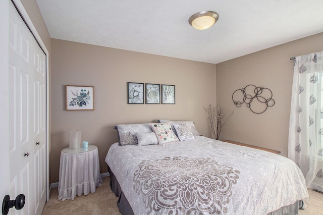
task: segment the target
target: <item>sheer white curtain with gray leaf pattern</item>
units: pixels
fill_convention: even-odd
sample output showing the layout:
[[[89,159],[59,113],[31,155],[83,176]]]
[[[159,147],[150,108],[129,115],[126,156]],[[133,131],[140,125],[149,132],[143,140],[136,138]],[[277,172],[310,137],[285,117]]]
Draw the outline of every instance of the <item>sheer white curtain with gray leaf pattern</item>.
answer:
[[[323,51],[295,58],[288,158],[323,191]]]

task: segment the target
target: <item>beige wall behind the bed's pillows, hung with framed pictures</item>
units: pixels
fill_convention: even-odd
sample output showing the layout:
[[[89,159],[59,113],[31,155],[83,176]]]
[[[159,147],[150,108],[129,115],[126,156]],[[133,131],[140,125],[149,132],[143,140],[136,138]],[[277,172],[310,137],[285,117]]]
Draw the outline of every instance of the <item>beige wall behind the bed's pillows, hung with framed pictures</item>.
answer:
[[[96,145],[100,172],[118,140],[117,124],[190,120],[209,136],[203,105],[216,103],[216,65],[51,39],[51,182],[59,180],[61,150],[70,130]],[[127,82],[176,86],[176,104],[127,104]],[[94,86],[94,111],[65,111],[65,85]]]

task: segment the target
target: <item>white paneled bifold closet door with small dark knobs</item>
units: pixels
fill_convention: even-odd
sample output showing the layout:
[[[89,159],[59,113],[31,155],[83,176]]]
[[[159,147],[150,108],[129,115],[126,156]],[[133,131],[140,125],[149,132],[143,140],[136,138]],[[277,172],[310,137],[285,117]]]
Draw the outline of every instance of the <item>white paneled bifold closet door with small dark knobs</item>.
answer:
[[[10,196],[25,195],[19,214],[41,214],[46,201],[46,55],[11,2],[9,8]]]

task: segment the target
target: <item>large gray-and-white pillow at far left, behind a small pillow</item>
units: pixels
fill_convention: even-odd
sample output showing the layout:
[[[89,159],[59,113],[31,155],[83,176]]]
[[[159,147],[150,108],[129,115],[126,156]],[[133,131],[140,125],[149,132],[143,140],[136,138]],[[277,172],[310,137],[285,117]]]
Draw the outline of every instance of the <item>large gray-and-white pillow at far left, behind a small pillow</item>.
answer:
[[[123,124],[116,125],[114,129],[118,132],[119,145],[135,145],[138,144],[137,133],[152,132],[149,123],[143,124]]]

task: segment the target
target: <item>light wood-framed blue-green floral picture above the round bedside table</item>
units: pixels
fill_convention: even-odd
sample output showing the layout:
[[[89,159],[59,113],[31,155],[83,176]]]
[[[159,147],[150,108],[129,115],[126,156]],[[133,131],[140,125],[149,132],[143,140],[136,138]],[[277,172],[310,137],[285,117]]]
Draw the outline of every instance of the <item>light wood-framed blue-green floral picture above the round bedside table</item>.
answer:
[[[94,110],[93,86],[66,85],[66,111]]]

